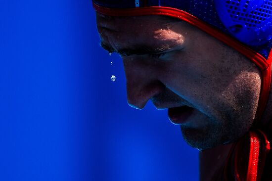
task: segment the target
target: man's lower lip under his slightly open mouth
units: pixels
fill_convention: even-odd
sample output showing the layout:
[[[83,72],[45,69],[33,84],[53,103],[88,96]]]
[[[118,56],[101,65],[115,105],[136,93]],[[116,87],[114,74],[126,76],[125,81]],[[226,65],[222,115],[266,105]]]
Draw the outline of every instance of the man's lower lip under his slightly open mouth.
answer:
[[[192,111],[193,108],[188,106],[168,108],[168,118],[173,124],[180,125],[186,122]]]

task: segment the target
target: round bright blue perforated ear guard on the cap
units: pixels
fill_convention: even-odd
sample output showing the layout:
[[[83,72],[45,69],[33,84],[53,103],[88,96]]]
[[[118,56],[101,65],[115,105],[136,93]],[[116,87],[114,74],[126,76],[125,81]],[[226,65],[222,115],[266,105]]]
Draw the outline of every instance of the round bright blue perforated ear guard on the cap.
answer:
[[[227,30],[246,45],[264,45],[272,39],[272,0],[215,0]]]

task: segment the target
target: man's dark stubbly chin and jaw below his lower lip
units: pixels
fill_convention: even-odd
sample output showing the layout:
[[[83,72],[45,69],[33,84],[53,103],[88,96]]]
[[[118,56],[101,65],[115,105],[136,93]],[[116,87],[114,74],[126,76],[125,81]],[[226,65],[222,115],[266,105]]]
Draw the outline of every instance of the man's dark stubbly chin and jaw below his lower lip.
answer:
[[[217,120],[197,114],[180,127],[187,144],[203,151],[237,141],[249,131],[253,121],[248,120],[251,120],[249,114],[235,117],[225,116]]]

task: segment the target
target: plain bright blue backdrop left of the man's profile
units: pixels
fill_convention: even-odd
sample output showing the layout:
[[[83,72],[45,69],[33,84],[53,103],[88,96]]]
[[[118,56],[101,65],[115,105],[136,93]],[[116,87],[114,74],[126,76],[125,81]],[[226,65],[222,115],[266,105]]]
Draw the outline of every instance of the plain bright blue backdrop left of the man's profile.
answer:
[[[0,181],[197,181],[198,151],[125,84],[91,0],[0,0]]]

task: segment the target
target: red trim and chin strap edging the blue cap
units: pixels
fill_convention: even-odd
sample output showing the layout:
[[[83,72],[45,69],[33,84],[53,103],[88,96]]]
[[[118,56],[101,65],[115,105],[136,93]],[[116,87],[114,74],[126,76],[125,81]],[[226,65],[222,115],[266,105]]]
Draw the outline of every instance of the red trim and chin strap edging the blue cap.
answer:
[[[257,53],[256,51],[252,50],[251,48],[247,47],[246,45],[241,44],[234,38],[226,35],[225,33],[217,30],[216,28],[212,27],[211,25],[205,23],[204,21],[198,19],[197,17],[182,11],[180,9],[172,8],[172,7],[164,7],[164,6],[151,6],[151,7],[137,7],[137,8],[106,8],[98,6],[97,4],[93,3],[94,9],[101,13],[110,16],[142,16],[142,15],[164,15],[170,16],[173,18],[181,19],[197,28],[201,29],[202,31],[210,34],[211,36],[215,37],[216,39],[224,42],[228,46],[236,49],[238,52],[246,56],[249,60],[255,63],[261,71],[262,76],[262,85],[261,85],[261,92],[258,102],[258,107],[254,119],[253,128],[258,128],[258,124],[260,124],[261,117],[264,113],[264,110],[267,105],[267,101],[269,98],[270,93],[270,86],[271,86],[271,63],[272,63],[272,50],[270,51],[268,59],[264,58],[261,54]],[[262,137],[265,137],[266,142],[266,153],[269,151],[269,141],[267,137],[261,132],[262,137],[257,136],[255,131],[251,131],[249,133],[250,137],[250,151],[249,151],[249,162],[248,162],[248,170],[247,176],[243,177],[246,178],[246,181],[258,181],[261,176],[257,177],[258,165],[264,165],[265,160],[260,160],[259,163],[259,153],[260,153],[260,140]],[[259,132],[260,133],[260,132]],[[241,144],[239,144],[241,145]],[[235,146],[236,152],[240,150],[239,146]],[[264,158],[264,157],[263,157]],[[235,163],[237,159],[235,159]],[[235,167],[236,168],[236,167]],[[262,169],[261,169],[262,170]],[[235,180],[240,181],[239,173],[235,170]]]

